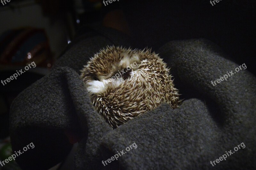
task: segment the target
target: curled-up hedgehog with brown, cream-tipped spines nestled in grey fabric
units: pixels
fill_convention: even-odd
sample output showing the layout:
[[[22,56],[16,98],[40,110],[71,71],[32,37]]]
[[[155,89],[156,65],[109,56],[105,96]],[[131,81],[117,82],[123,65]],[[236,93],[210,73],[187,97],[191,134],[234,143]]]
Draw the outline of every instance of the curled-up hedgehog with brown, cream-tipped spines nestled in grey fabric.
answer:
[[[169,69],[151,50],[106,47],[81,70],[95,109],[116,128],[161,103],[180,104]]]

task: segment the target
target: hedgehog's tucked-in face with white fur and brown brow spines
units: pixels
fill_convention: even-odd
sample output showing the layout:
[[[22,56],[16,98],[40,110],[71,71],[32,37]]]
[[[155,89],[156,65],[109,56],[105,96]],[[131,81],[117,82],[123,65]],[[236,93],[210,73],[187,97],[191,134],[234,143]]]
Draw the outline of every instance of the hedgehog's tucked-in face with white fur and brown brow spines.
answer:
[[[103,56],[102,56],[103,57]],[[86,86],[89,94],[103,94],[106,89],[116,88],[126,79],[130,78],[132,72],[138,68],[137,62],[140,61],[138,55],[127,54],[126,52],[113,55],[112,58],[104,56],[103,58],[92,58],[91,65],[87,65]],[[97,61],[97,60],[100,60]],[[97,63],[94,65],[92,63]],[[89,71],[91,70],[91,71]],[[94,71],[95,70],[95,71]],[[100,70],[97,71],[97,70]]]

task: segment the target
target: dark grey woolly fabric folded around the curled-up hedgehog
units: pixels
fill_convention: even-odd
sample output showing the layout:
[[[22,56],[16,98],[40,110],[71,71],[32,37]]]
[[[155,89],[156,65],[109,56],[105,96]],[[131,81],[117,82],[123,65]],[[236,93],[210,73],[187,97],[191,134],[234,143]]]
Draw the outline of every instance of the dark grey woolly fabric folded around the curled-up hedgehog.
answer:
[[[17,158],[22,168],[47,169],[64,160],[72,146],[64,134],[67,129],[82,136],[74,160],[79,170],[256,168],[256,78],[242,69],[213,86],[211,81],[243,63],[229,61],[207,40],[172,41],[158,51],[183,94],[179,108],[161,104],[112,130],[93,109],[79,70],[107,45],[129,47],[121,35],[113,37],[95,34],[75,41],[48,76],[13,101],[13,150],[35,145]],[[102,164],[132,143],[136,149]],[[216,163],[241,143],[244,149],[240,146]]]

